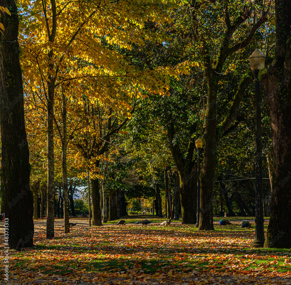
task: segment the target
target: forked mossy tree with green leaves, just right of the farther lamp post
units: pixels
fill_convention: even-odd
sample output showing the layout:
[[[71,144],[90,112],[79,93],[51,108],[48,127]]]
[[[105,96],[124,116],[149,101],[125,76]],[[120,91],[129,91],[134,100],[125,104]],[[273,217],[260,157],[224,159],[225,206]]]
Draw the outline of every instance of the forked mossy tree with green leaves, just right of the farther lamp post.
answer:
[[[248,19],[254,9],[259,9],[258,6],[251,2],[221,2],[196,1],[190,5],[182,5],[181,9],[177,11],[178,20],[173,26],[177,36],[189,40],[188,52],[191,53],[192,58],[200,61],[207,82],[207,105],[204,113],[205,133],[203,135],[204,156],[200,175],[199,230],[214,230],[213,181],[217,166],[217,147],[221,138],[228,134],[229,129],[233,127],[233,122],[237,120],[240,101],[250,83],[248,74],[240,76],[236,92],[232,94],[233,97],[228,97],[226,109],[218,117],[220,82],[222,74],[226,73],[223,72],[223,68],[226,69],[226,65],[229,66],[229,69],[232,68],[231,62],[235,60],[234,53],[251,42],[257,29],[267,21],[269,12],[269,8],[266,11],[263,10],[260,19],[252,23]],[[185,23],[187,15],[189,24],[187,21]]]

